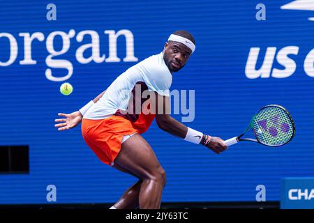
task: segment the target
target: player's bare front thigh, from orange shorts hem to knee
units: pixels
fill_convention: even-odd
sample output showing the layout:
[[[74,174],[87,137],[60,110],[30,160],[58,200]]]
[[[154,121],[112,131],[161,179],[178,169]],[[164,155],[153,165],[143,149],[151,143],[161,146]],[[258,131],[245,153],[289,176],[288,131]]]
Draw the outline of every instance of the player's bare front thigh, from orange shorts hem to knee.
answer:
[[[165,174],[151,146],[140,134],[133,135],[122,144],[114,163],[141,179]]]

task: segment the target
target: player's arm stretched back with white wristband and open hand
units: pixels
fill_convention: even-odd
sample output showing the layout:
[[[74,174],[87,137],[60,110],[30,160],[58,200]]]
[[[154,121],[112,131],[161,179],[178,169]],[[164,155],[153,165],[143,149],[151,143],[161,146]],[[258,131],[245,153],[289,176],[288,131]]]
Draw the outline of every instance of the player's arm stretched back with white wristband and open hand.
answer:
[[[64,118],[55,119],[54,121],[56,121],[59,124],[54,125],[54,127],[57,127],[58,131],[69,130],[71,128],[75,128],[75,126],[77,126],[82,121],[84,113],[87,112],[87,110],[89,109],[89,107],[91,107],[91,105],[93,105],[101,97],[103,97],[103,94],[105,93],[105,91],[100,93],[96,98],[94,98],[94,100],[91,100],[87,105],[82,107],[82,109],[80,109],[77,112],[73,112],[71,114],[58,113],[59,116],[63,116]]]

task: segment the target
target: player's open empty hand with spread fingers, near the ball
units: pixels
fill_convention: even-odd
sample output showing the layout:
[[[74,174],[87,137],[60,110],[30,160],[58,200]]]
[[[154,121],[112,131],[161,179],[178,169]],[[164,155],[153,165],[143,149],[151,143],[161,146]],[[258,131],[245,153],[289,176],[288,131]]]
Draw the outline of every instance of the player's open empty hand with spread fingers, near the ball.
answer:
[[[55,119],[59,124],[54,125],[54,127],[58,128],[58,131],[63,131],[63,130],[69,130],[70,128],[75,128],[76,125],[78,125],[82,121],[82,114],[77,111],[73,112],[71,114],[63,114],[63,113],[58,113],[59,116],[63,116],[65,118],[59,118]]]

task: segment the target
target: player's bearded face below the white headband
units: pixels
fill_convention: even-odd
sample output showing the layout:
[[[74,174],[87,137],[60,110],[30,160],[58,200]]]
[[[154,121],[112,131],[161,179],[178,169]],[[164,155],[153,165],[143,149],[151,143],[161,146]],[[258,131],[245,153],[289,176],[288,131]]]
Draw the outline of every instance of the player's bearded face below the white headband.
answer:
[[[169,41],[163,49],[163,59],[170,72],[177,72],[186,65],[192,50],[186,45]]]

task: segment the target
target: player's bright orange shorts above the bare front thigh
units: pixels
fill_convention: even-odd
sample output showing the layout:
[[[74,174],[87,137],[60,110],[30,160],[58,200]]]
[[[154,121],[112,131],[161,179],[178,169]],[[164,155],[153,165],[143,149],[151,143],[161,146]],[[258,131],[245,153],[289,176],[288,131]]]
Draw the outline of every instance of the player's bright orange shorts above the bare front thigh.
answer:
[[[121,116],[82,120],[82,136],[86,144],[102,162],[110,166],[114,164],[114,159],[121,150],[123,137],[136,132],[139,130],[136,130],[128,119]]]

